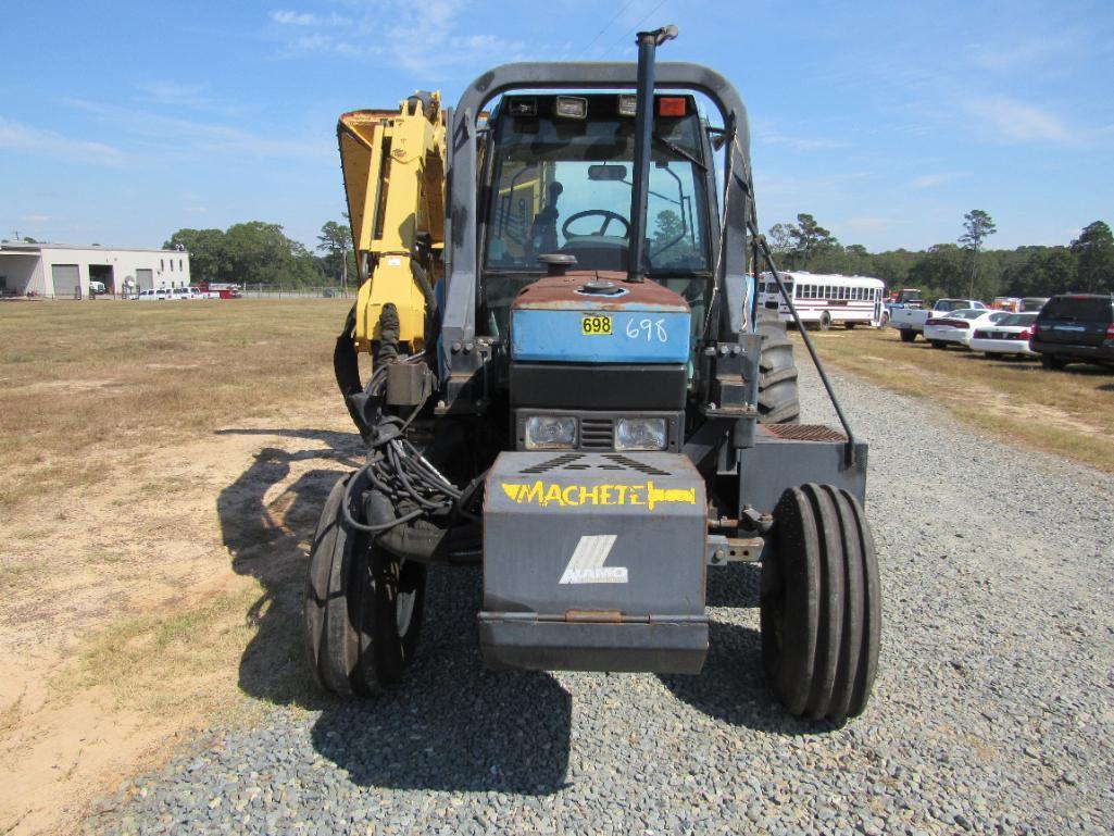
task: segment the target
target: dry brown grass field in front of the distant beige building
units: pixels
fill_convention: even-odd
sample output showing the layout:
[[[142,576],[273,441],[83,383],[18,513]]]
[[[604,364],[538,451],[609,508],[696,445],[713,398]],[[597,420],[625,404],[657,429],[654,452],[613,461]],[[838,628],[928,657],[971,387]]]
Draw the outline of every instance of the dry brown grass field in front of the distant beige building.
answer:
[[[0,307],[0,505],[115,478],[136,453],[222,422],[333,397],[348,304]]]

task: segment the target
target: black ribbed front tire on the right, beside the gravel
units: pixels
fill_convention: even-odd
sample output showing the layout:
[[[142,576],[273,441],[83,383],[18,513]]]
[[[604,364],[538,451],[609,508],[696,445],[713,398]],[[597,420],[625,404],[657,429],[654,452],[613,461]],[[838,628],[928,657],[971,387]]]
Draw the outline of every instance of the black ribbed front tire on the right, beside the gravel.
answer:
[[[762,661],[794,717],[843,722],[866,709],[878,671],[881,593],[870,526],[831,485],[786,489],[762,564]]]

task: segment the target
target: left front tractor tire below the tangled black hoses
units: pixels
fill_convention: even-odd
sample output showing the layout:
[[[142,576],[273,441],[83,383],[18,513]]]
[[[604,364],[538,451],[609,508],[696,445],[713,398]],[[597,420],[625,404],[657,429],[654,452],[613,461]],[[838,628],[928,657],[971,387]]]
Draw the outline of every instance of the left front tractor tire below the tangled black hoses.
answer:
[[[426,593],[424,566],[395,557],[344,522],[350,478],[333,486],[321,512],[302,609],[314,681],[344,698],[370,697],[402,679],[417,648]],[[352,516],[363,522],[355,505]]]

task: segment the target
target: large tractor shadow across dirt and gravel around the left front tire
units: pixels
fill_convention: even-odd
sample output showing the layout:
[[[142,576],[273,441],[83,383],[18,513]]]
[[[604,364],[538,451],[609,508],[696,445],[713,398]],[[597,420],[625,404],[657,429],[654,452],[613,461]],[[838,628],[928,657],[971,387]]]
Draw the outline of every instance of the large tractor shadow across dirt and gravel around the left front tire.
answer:
[[[320,711],[313,747],[361,786],[528,795],[567,786],[571,698],[546,673],[483,669],[478,567],[430,570],[421,643],[403,686],[352,702],[315,688],[302,638],[310,543],[330,489],[360,464],[363,445],[346,432],[218,432],[321,444],[261,449],[217,497],[232,567],[263,589],[246,613],[256,634],[240,663],[243,691]]]

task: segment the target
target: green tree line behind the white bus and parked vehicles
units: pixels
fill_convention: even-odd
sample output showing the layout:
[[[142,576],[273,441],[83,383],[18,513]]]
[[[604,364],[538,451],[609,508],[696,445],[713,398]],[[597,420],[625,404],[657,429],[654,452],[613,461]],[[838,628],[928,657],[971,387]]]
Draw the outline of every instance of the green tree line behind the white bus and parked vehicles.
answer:
[[[997,227],[981,210],[968,212],[961,230],[955,243],[871,253],[861,244],[841,244],[812,215],[802,213],[795,224],[774,224],[766,240],[779,269],[870,275],[889,288],[918,288],[929,299],[1114,292],[1114,235],[1102,221],[1088,224],[1064,245],[1016,250],[985,249]]]

